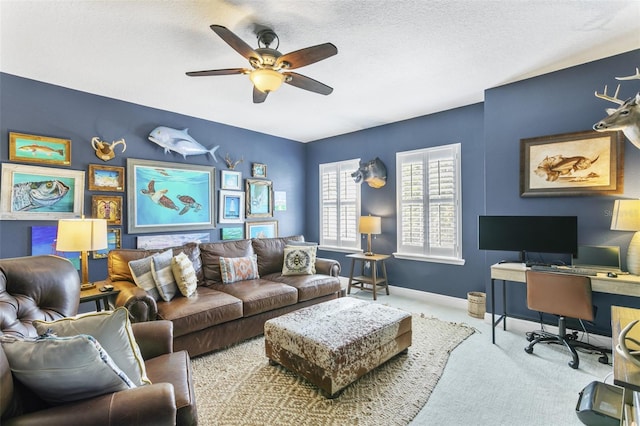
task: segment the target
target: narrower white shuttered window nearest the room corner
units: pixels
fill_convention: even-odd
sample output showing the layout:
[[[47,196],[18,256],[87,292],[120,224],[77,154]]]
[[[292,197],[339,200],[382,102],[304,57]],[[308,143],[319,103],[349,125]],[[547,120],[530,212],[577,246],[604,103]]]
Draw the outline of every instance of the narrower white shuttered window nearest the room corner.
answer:
[[[360,159],[320,164],[320,245],[360,249],[360,185],[351,173]]]

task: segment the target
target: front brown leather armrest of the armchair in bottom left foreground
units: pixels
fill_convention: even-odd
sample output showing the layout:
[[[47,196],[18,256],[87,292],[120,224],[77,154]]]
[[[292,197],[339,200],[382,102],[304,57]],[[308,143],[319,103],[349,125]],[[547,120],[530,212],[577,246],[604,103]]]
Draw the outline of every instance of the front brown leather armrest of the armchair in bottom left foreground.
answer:
[[[2,419],[2,424],[175,425],[176,412],[173,385],[155,383]]]

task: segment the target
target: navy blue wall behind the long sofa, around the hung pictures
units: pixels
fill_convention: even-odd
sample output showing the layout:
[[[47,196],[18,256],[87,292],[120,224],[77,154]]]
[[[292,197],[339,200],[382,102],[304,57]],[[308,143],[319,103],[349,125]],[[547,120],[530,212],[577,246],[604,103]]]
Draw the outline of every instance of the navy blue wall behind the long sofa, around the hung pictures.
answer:
[[[305,147],[302,143],[5,73],[0,73],[0,87],[0,160],[3,163],[9,158],[9,132],[22,132],[71,139],[70,169],[86,171],[90,163],[126,167],[127,157],[212,165],[216,168],[216,188],[219,188],[220,170],[226,169],[225,154],[229,153],[233,159],[244,156],[244,162],[236,168],[242,172],[243,178],[251,177],[252,162],[264,163],[267,165],[267,178],[273,181],[274,190],[287,193],[287,210],[275,212],[274,216],[279,223],[280,235],[301,234],[304,231],[305,194],[300,185],[304,177]],[[220,145],[216,152],[218,162],[214,163],[208,155],[190,156],[187,160],[175,153],[165,155],[162,148],[147,140],[156,126],[189,128],[189,134],[202,145]],[[106,141],[125,138],[127,150],[120,154],[116,149],[116,158],[105,163],[95,156],[91,148],[91,138],[94,136]],[[98,194],[125,196],[125,193],[85,190],[84,213],[87,217],[91,216],[91,195]],[[122,246],[132,248],[136,246],[136,235],[126,233],[126,197],[124,199]],[[55,224],[55,221],[0,221],[0,257],[30,255],[31,226]],[[211,241],[220,239],[219,228],[222,226],[230,225],[218,225],[211,230]],[[89,272],[91,280],[104,279],[106,260],[91,259]]]

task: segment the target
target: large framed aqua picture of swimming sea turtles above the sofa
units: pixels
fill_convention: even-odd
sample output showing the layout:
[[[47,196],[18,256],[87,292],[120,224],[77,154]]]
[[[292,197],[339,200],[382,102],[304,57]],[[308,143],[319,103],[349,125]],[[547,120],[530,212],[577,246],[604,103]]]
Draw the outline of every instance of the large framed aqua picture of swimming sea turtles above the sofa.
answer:
[[[215,228],[214,189],[214,167],[128,158],[128,233]]]

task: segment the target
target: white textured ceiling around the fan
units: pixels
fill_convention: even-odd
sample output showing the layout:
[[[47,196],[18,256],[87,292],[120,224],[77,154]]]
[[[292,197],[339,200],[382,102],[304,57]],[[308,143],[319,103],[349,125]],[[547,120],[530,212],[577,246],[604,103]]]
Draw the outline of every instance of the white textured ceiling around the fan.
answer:
[[[0,0],[0,70],[308,142],[640,48],[639,23],[638,0]],[[256,25],[271,27],[282,53],[335,44],[296,70],[334,92],[285,84],[253,104],[247,76],[185,76],[248,66],[211,24],[254,48]]]

